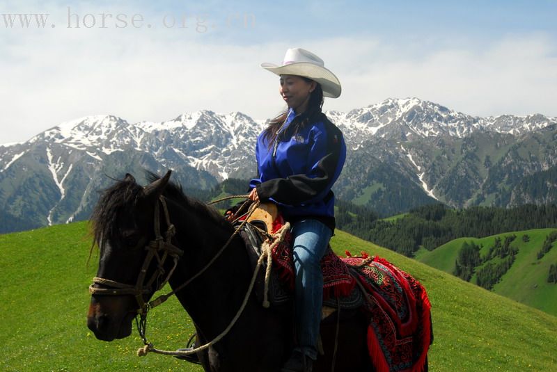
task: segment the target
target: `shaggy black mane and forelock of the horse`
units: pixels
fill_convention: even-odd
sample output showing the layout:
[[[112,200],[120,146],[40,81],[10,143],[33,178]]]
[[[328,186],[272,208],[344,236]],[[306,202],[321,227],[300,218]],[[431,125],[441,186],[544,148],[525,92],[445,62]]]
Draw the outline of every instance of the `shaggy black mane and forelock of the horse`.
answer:
[[[159,175],[146,171],[148,181],[153,182],[160,179]],[[93,236],[97,245],[102,246],[110,236],[116,233],[116,223],[118,211],[125,208],[132,208],[136,205],[143,187],[136,183],[133,177],[117,180],[109,188],[102,192],[102,195],[93,209],[91,223],[93,224]],[[232,230],[233,227],[225,220],[217,209],[208,207],[205,203],[185,195],[182,185],[169,181],[162,193],[168,200],[175,202],[180,207],[192,211],[195,216],[203,220]]]

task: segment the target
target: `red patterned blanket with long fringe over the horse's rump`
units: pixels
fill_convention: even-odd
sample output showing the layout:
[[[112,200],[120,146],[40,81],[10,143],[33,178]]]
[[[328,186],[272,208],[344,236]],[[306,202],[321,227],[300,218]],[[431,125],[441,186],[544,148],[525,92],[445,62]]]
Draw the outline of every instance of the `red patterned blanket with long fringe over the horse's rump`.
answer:
[[[369,314],[368,350],[378,372],[421,372],[432,343],[430,300],[423,286],[386,259],[347,257],[343,262],[357,268]],[[361,266],[361,267],[360,267]]]

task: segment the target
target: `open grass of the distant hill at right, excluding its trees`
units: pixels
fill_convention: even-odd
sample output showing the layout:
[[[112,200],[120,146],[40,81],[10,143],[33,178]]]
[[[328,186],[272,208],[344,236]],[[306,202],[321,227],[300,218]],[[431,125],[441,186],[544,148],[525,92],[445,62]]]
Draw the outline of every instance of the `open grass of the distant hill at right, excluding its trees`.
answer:
[[[546,236],[554,231],[556,229],[533,229],[497,234],[486,238],[458,238],[432,251],[418,251],[416,259],[439,270],[453,273],[458,251],[464,242],[483,245],[480,255],[485,256],[489,247],[494,245],[496,238],[504,241],[505,236],[515,234],[517,238],[511,243],[512,247],[518,249],[515,262],[501,277],[501,282],[495,284],[493,291],[557,316],[557,285],[547,282],[549,266],[557,264],[557,243],[554,243],[554,248],[542,259],[536,257]],[[522,241],[521,237],[524,234],[530,238],[528,242]],[[471,278],[471,282],[476,283],[475,275]]]

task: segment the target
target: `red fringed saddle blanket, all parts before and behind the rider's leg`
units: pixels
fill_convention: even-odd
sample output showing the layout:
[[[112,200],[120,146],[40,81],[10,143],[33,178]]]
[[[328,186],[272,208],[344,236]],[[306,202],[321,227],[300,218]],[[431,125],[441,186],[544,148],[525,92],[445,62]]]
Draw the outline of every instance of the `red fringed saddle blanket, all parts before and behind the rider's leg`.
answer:
[[[273,232],[283,225],[277,218]],[[290,288],[295,271],[291,237],[273,250],[273,266]],[[373,257],[361,265],[363,257],[340,258],[332,250],[321,260],[323,296],[348,296],[356,280],[366,297],[363,311],[369,316],[368,351],[378,372],[421,372],[432,341],[430,301],[423,286],[386,259]]]

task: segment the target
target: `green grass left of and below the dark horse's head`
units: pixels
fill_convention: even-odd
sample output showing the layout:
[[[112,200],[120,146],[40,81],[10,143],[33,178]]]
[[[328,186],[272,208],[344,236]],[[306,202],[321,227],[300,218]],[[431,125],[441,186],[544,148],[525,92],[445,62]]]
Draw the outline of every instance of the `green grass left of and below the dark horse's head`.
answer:
[[[137,357],[141,339],[98,341],[86,325],[97,255],[86,224],[0,235],[1,371],[203,371],[173,357]],[[175,298],[150,314],[148,337],[183,347],[194,332]]]

